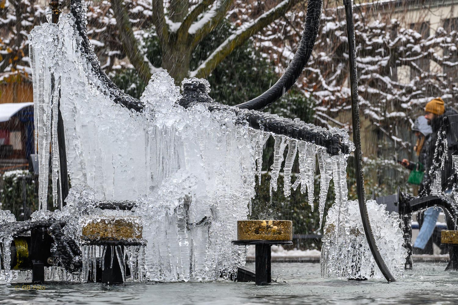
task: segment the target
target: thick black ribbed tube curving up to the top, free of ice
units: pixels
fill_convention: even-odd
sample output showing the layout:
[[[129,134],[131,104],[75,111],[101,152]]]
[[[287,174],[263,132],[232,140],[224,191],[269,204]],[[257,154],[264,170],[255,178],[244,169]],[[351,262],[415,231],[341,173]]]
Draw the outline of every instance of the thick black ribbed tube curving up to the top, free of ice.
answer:
[[[304,70],[309,61],[312,48],[315,45],[318,28],[321,21],[322,0],[309,0],[307,3],[307,16],[305,17],[305,27],[300,38],[299,47],[294,54],[293,60],[282,77],[266,92],[251,101],[241,103],[237,107],[242,109],[262,110],[271,105],[284,95],[286,91],[294,85],[296,80]]]

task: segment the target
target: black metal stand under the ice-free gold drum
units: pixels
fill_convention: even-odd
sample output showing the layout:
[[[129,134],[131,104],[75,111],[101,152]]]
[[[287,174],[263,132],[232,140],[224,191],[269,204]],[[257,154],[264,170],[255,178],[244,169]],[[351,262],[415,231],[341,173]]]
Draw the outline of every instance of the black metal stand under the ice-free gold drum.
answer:
[[[292,245],[292,241],[264,241],[264,240],[237,240],[232,241],[234,245],[239,246],[249,246],[254,245],[256,246],[255,251],[255,264],[256,264],[256,273],[255,283],[256,285],[270,285],[272,282],[272,252],[271,246],[273,245]],[[239,268],[239,272],[240,272]],[[242,269],[242,274],[240,274],[240,281],[239,281],[239,274],[237,274],[237,280],[239,282],[247,282],[246,278],[252,278],[252,273],[248,270]],[[248,276],[248,277],[247,277]]]

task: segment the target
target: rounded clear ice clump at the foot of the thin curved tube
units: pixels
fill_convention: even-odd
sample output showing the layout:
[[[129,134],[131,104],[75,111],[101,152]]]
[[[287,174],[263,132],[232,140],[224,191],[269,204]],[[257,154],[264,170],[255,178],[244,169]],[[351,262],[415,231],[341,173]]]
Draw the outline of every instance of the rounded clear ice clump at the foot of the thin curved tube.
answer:
[[[383,278],[367,243],[357,200],[348,200],[346,157],[333,157],[333,177],[336,201],[328,209],[322,237],[322,277]],[[339,181],[341,183],[339,183]],[[366,202],[376,245],[383,261],[395,278],[403,276],[407,251],[403,247],[403,231],[399,214],[389,214],[384,204]]]

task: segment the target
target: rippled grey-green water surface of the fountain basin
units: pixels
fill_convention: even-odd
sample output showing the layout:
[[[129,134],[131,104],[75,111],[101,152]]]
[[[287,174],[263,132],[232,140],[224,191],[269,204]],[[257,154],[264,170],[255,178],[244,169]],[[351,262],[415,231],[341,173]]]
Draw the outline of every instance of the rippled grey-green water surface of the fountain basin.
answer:
[[[253,264],[247,267],[254,268]],[[1,284],[2,304],[457,304],[458,272],[446,263],[415,263],[403,279],[354,282],[321,278],[317,263],[273,263],[278,283],[45,283],[44,290]]]

